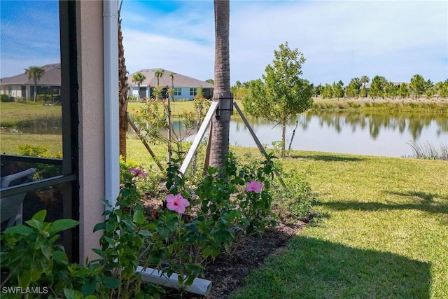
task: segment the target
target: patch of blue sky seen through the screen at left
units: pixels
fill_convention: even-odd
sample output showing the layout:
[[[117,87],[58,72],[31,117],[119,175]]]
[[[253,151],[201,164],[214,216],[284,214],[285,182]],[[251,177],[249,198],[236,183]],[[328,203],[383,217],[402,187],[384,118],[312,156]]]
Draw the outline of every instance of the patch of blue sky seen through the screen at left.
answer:
[[[57,1],[0,1],[0,76],[60,62]]]

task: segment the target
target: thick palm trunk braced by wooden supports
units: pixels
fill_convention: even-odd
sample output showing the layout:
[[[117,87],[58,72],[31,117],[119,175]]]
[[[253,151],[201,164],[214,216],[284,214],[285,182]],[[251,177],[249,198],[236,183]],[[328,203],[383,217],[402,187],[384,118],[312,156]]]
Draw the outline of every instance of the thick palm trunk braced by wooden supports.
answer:
[[[214,0],[215,8],[215,87],[213,100],[219,101],[212,120],[210,166],[221,168],[228,159],[230,115],[233,109],[230,91],[229,20],[230,1]]]

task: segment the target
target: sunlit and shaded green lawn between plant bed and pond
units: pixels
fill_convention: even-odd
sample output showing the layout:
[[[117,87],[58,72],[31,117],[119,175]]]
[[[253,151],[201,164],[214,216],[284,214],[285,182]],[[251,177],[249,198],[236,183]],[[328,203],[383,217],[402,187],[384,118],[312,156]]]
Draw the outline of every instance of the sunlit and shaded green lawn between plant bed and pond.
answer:
[[[447,162],[293,155],[318,216],[232,298],[447,298]]]

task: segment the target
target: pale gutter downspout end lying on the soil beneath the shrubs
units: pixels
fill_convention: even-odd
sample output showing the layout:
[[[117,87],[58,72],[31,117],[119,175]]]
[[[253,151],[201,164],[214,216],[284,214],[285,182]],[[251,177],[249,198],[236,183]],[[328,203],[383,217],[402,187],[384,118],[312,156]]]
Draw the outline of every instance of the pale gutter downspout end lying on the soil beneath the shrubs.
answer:
[[[159,270],[151,268],[144,269],[141,266],[137,267],[135,272],[141,273],[141,280],[143,281],[179,289],[179,275],[176,273],[173,273],[170,277],[167,277],[167,275],[163,274]],[[202,278],[195,278],[193,284],[191,286],[187,286],[185,290],[198,295],[207,295],[211,290],[211,281]]]

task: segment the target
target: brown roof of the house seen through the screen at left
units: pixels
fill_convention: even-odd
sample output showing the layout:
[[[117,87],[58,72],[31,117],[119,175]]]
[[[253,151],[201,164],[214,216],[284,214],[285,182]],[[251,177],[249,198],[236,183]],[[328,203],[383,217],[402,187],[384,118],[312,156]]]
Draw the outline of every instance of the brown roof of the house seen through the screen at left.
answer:
[[[43,66],[45,69],[45,74],[43,74],[41,80],[37,81],[38,85],[61,85],[61,64],[53,63],[46,64]],[[23,74],[6,77],[0,79],[1,85],[34,85],[33,78],[29,79],[25,74],[25,69]]]

